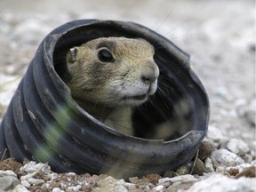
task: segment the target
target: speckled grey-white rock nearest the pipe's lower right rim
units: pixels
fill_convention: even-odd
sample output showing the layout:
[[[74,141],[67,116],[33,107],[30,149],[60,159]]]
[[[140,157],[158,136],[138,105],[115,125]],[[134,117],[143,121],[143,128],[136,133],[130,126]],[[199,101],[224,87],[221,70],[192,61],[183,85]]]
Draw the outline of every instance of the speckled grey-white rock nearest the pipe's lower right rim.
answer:
[[[228,151],[225,148],[213,151],[211,160],[212,164],[214,164],[215,166],[236,166],[237,164],[244,163],[244,160],[240,156],[237,156],[236,154]]]

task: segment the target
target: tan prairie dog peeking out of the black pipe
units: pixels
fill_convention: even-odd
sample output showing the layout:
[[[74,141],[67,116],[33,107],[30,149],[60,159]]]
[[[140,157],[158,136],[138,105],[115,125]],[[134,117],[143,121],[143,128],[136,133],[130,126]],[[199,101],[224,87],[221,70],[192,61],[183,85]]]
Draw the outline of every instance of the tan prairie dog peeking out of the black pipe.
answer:
[[[69,50],[66,82],[76,103],[117,132],[133,134],[132,107],[156,92],[154,47],[143,39],[101,37]]]

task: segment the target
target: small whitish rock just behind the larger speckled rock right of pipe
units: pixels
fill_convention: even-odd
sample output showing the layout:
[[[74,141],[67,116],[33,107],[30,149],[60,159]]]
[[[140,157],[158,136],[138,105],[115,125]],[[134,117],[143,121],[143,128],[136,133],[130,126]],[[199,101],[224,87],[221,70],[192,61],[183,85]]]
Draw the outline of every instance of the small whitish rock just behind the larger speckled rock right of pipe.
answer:
[[[237,154],[244,155],[250,151],[250,148],[243,140],[231,139],[228,141],[228,150]]]

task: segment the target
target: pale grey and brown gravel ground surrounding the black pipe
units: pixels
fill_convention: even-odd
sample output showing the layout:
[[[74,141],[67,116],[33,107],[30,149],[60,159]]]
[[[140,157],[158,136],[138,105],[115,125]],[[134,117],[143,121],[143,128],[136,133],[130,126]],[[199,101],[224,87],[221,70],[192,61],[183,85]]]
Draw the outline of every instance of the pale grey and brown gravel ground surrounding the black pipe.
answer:
[[[166,170],[124,181],[57,174],[47,164],[9,159],[0,164],[0,191],[6,178],[16,191],[256,190],[254,1],[2,0],[0,7],[0,121],[38,44],[53,28],[76,19],[132,20],[166,36],[191,55],[191,68],[211,102],[209,132],[193,175],[188,174],[193,162],[174,174]]]

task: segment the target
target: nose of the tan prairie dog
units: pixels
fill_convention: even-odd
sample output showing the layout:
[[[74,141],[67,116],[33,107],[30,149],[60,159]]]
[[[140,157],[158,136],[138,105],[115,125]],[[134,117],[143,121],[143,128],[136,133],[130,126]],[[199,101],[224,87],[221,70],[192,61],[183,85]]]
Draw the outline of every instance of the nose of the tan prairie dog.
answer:
[[[155,62],[150,61],[147,65],[143,66],[141,73],[141,80],[145,84],[151,84],[159,76],[159,68]]]

